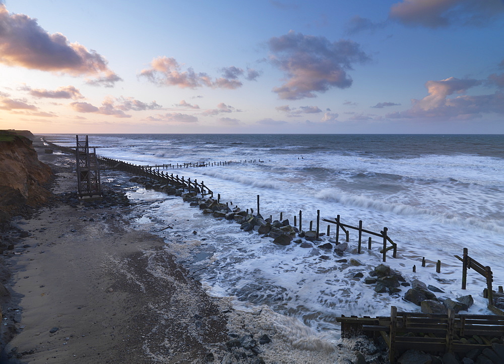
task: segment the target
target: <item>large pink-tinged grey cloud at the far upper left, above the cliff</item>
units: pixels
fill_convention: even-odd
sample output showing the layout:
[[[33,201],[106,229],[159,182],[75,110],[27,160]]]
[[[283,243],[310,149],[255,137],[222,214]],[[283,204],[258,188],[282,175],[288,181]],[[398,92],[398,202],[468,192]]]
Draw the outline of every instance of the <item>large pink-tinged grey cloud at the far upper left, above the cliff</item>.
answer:
[[[0,63],[71,76],[114,75],[120,80],[96,51],[77,42],[70,43],[61,33],[49,34],[27,15],[9,14],[3,4],[0,4],[0,24]]]

